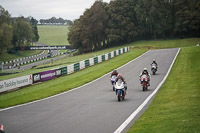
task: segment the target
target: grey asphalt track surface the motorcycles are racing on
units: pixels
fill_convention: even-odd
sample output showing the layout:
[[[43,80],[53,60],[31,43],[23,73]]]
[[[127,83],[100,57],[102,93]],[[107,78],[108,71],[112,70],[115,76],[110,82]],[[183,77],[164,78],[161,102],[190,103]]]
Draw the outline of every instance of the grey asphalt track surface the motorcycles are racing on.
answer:
[[[113,133],[162,81],[177,52],[178,49],[150,50],[119,68],[128,84],[126,98],[121,102],[112,91],[109,73],[55,97],[1,110],[0,123],[6,133]],[[150,70],[154,58],[158,72],[151,75],[151,86],[143,92],[138,75],[144,67]]]

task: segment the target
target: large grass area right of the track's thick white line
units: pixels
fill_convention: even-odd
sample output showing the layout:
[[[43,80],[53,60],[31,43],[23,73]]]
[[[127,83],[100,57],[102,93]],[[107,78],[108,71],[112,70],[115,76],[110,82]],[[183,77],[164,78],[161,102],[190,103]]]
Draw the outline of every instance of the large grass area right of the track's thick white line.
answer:
[[[200,47],[182,48],[153,102],[128,133],[200,131]]]

